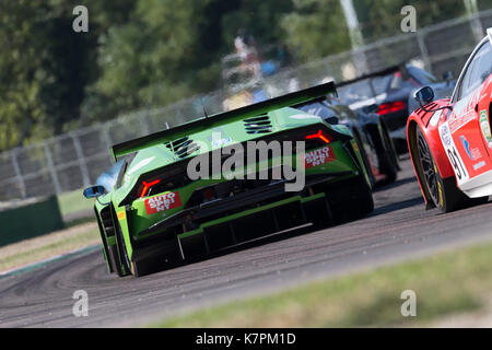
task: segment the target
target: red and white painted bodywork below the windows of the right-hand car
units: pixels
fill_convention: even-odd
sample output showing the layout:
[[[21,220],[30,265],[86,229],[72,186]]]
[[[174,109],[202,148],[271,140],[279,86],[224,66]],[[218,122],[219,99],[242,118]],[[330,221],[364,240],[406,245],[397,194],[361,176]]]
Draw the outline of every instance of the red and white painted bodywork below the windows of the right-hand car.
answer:
[[[424,106],[425,109],[449,106],[453,110],[446,108],[426,113],[422,108],[418,108],[409,117],[407,122],[408,147],[413,170],[427,207],[434,206],[430,205],[432,200],[429,200],[415,166],[415,150],[412,150],[411,147],[411,133],[414,132],[415,127],[423,131],[441,177],[454,176],[458,188],[462,189],[477,176],[492,171],[491,95],[492,74],[470,95],[455,105],[452,105],[449,100],[438,100]]]

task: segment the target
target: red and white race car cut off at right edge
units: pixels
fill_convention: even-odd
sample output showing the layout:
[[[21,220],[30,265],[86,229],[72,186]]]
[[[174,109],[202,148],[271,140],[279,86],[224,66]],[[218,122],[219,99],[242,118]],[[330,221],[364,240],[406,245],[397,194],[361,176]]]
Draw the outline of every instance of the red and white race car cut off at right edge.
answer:
[[[421,107],[407,122],[407,141],[426,209],[443,212],[482,203],[492,195],[492,28],[468,58],[453,92],[434,100],[415,92]]]

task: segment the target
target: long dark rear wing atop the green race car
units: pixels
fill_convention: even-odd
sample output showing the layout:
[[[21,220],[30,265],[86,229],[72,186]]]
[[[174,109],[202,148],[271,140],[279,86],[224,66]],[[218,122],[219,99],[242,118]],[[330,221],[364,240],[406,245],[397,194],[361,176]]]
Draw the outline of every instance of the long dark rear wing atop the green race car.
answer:
[[[145,149],[166,141],[176,140],[178,138],[187,136],[187,133],[190,133],[192,131],[207,129],[212,124],[215,124],[218,121],[224,121],[227,119],[234,120],[239,117],[250,116],[251,114],[260,115],[273,109],[290,107],[300,103],[318,100],[331,93],[337,94],[337,89],[332,81],[279,97],[266,100],[237,109],[219,113],[209,117],[192,120],[176,126],[172,129],[157,131],[138,139],[115,144],[112,147],[113,159],[116,162],[119,158],[126,154],[133,153],[141,149]]]

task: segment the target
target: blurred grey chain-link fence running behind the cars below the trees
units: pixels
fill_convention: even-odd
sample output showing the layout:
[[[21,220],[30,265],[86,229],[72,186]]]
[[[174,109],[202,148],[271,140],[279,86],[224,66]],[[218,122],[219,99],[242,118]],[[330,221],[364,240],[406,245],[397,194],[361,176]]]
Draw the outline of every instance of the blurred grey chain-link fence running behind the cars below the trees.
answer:
[[[343,81],[405,61],[419,60],[437,77],[459,73],[468,55],[492,27],[492,10],[386,38],[307,65],[284,69],[263,84],[270,95],[335,79]],[[140,110],[39,143],[0,153],[0,201],[61,194],[94,184],[113,160],[109,147],[223,109],[223,91],[162,108]]]

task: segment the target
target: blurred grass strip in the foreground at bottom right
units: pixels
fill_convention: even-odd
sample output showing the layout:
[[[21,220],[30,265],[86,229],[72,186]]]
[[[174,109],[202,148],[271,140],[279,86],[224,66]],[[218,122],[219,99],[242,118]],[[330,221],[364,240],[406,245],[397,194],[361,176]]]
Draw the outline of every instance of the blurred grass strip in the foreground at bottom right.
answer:
[[[421,326],[484,306],[492,288],[492,244],[314,282],[281,293],[165,319],[151,327]],[[417,316],[402,317],[403,290]]]

